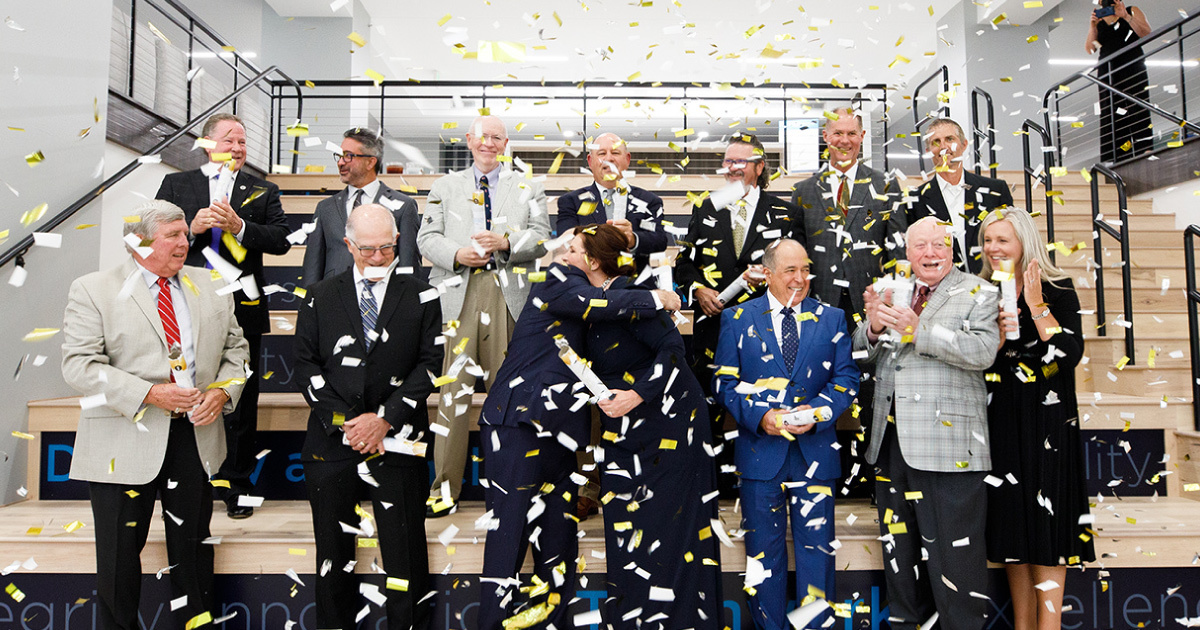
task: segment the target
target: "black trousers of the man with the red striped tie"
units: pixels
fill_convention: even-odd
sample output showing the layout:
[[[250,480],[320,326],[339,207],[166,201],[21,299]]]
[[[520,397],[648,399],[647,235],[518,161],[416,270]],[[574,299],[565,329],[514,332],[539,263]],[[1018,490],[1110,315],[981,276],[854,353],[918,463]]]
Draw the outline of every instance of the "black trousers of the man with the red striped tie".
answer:
[[[168,488],[168,481],[178,485]],[[143,485],[92,481],[88,490],[96,523],[101,629],[142,628],[138,623],[142,548],[154,518],[155,497],[162,499],[172,598],[187,595],[187,604],[175,611],[175,626],[182,628],[188,619],[212,611],[212,545],[204,544],[212,518],[212,494],[196,449],[194,427],[187,419],[170,421],[167,455],[152,481]]]

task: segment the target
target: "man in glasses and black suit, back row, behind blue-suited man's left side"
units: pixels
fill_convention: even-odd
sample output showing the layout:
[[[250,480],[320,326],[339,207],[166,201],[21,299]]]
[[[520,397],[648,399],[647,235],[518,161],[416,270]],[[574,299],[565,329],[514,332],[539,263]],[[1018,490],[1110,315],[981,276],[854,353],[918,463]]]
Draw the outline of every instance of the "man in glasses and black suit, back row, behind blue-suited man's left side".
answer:
[[[770,168],[767,150],[757,137],[736,132],[725,148],[719,173],[730,185],[740,185],[743,196],[724,208],[708,197],[695,209],[688,236],[676,262],[676,282],[692,308],[691,370],[713,398],[713,361],[720,337],[721,311],[762,295],[766,274],[762,258],[767,246],[793,238],[800,209],[767,192]],[[742,280],[749,289],[720,299],[721,292]],[[724,434],[721,407],[712,406],[718,422],[714,434]],[[726,454],[732,461],[732,455]]]

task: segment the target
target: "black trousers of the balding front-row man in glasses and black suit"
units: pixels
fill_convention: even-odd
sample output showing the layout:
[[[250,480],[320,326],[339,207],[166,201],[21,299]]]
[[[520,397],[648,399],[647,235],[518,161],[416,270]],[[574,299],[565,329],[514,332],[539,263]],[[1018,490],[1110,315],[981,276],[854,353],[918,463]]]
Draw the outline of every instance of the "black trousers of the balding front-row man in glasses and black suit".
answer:
[[[413,460],[416,464],[397,458]],[[359,476],[359,460],[305,462],[305,485],[312,508],[312,528],[317,538],[317,628],[354,630],[354,618],[365,605],[359,594],[354,570],[346,570],[355,559],[354,534],[341,523],[358,527],[361,520],[354,508],[362,499],[374,506],[374,528],[379,554],[388,577],[408,581],[408,589],[388,588],[388,628],[424,630],[433,618],[430,556],[425,538],[425,497],[428,473],[424,460],[403,455],[385,455],[367,462],[378,486]],[[384,505],[389,504],[389,505]]]

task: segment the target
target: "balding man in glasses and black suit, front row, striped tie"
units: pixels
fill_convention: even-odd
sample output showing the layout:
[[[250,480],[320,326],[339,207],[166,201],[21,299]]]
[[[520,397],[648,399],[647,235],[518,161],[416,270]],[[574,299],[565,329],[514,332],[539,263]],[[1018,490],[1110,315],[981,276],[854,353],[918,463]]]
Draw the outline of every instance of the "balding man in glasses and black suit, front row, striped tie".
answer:
[[[343,242],[354,264],[308,287],[296,318],[296,384],[311,408],[301,458],[317,536],[317,628],[356,628],[366,606],[346,526],[365,538],[378,532],[388,628],[427,629],[433,618],[425,599],[425,401],[442,367],[442,308],[421,298],[428,284],[397,269],[397,233],[386,208],[352,210]],[[373,521],[359,516],[364,499]]]

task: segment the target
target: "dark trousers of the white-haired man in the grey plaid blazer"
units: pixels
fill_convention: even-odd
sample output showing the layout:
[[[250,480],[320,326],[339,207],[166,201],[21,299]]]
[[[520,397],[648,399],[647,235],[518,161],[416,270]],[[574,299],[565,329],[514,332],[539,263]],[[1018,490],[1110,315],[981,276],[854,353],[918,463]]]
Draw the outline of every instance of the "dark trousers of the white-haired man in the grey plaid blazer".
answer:
[[[877,462],[875,497],[880,530],[894,540],[883,545],[883,574],[888,586],[888,616],[895,630],[914,630],[938,613],[937,628],[979,630],[988,604],[971,593],[988,588],[984,528],[988,521],[986,473],[930,473],[905,463],[895,427],[883,434]],[[905,498],[920,492],[920,498]],[[905,532],[892,532],[904,523]],[[958,545],[955,545],[958,541]],[[929,562],[922,562],[922,547]],[[946,582],[954,584],[950,588]]]

